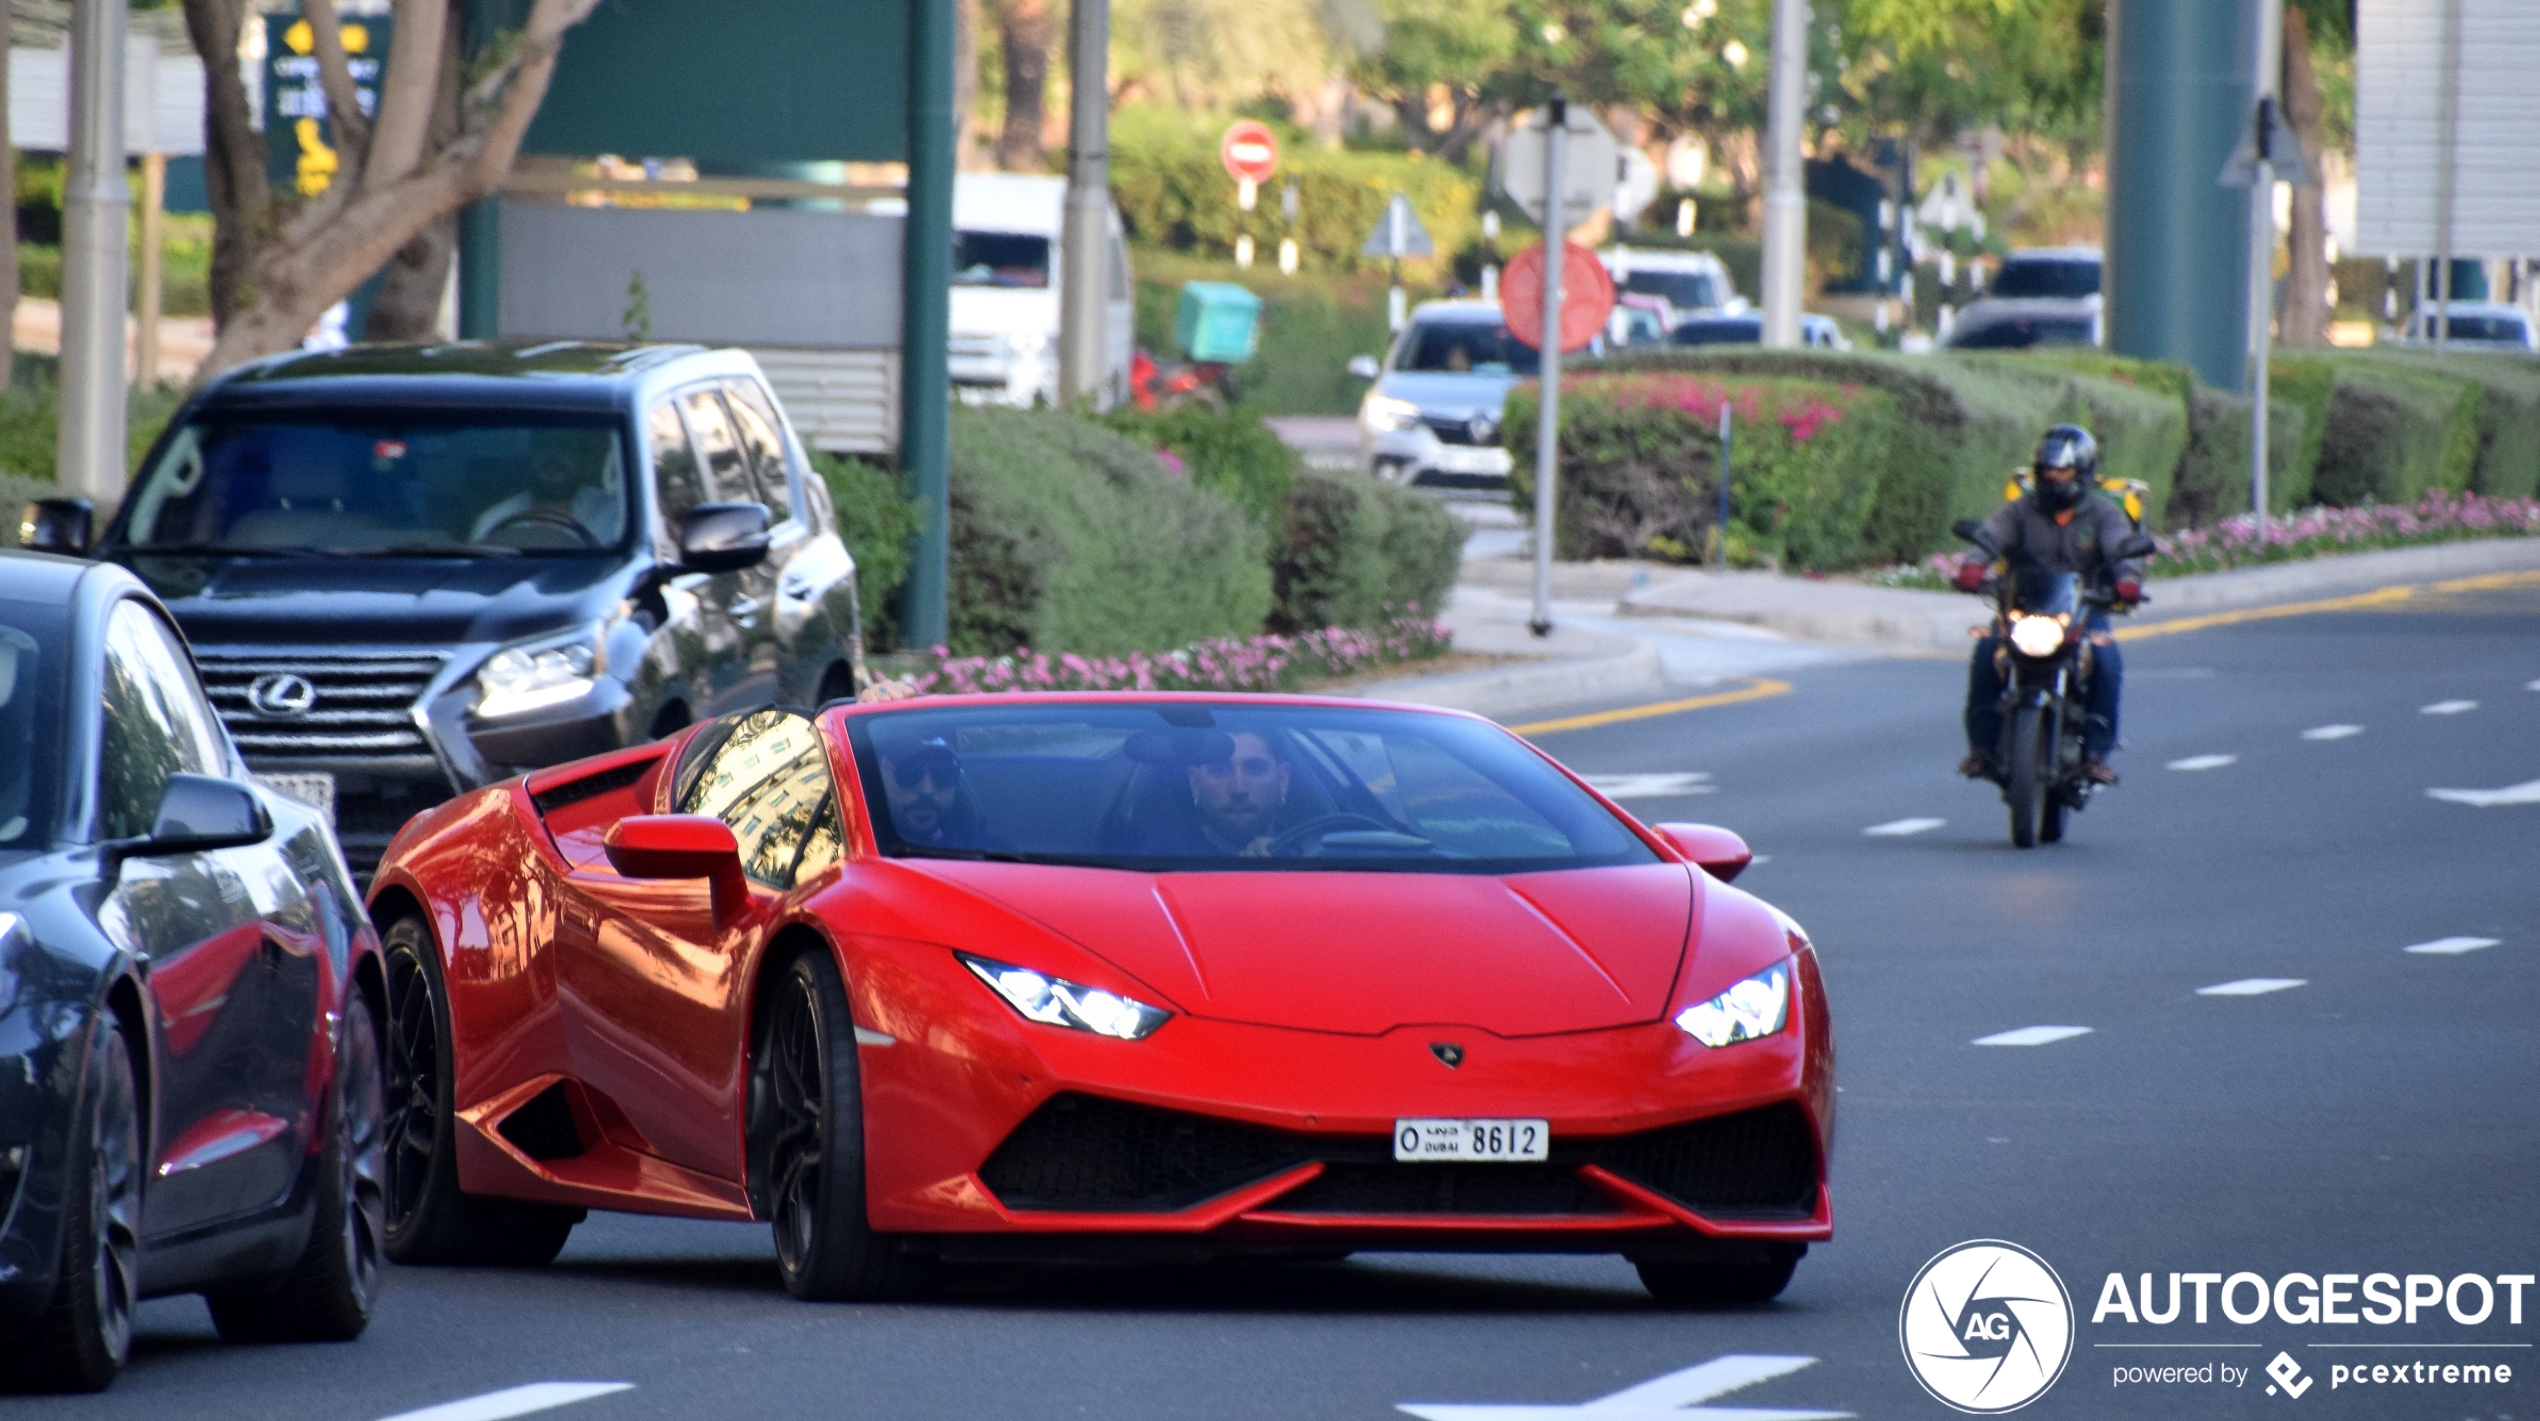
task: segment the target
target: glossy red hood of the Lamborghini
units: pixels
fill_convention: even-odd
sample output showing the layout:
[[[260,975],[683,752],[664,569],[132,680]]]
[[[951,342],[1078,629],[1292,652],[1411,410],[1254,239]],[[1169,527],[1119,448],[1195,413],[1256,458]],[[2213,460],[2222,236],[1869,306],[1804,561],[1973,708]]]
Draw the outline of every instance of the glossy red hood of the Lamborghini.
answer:
[[[1196,1017],[1351,1035],[1656,1022],[1694,905],[1681,864],[1481,877],[937,859],[925,872],[1044,923]]]

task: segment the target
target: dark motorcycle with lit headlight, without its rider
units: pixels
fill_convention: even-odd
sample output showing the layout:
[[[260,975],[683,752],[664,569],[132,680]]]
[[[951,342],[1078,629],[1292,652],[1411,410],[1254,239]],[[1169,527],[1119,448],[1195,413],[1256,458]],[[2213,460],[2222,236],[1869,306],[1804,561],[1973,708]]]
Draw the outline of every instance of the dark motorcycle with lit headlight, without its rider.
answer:
[[[1984,524],[1961,519],[1951,531],[1976,552],[2002,562]],[[2116,544],[2111,559],[2149,557],[2144,534]],[[2012,846],[2035,849],[2065,836],[2070,813],[2088,808],[2098,785],[2083,760],[2090,686],[2090,613],[2113,608],[2116,595],[2083,587],[2078,572],[2009,572],[1976,587],[1994,602],[1996,666],[2002,671],[2002,742],[1994,747],[1994,783],[2012,808]],[[2144,597],[2146,602],[2151,597]]]

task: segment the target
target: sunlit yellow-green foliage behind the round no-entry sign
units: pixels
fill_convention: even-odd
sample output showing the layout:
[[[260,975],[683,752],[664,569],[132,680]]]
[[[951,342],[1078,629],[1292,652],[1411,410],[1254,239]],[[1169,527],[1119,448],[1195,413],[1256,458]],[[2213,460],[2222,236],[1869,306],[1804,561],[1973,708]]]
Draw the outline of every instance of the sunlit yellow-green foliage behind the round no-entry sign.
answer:
[[[1113,201],[1135,241],[1214,257],[1250,231],[1260,259],[1270,259],[1280,236],[1295,236],[1306,269],[1356,272],[1379,262],[1359,247],[1394,193],[1410,196],[1438,252],[1463,249],[1481,229],[1481,180],[1471,173],[1417,153],[1336,153],[1295,132],[1283,135],[1280,173],[1260,206],[1240,211],[1217,158],[1219,130],[1171,109],[1113,114]],[[1298,183],[1295,229],[1280,216],[1288,180]]]

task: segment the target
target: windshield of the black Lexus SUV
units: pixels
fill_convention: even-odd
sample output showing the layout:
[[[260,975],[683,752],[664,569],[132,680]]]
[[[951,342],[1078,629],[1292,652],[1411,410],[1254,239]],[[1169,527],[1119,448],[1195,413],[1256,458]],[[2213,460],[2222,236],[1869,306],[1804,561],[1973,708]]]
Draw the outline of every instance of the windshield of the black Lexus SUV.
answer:
[[[208,412],[130,506],[132,549],[234,554],[577,554],[632,524],[607,414]]]

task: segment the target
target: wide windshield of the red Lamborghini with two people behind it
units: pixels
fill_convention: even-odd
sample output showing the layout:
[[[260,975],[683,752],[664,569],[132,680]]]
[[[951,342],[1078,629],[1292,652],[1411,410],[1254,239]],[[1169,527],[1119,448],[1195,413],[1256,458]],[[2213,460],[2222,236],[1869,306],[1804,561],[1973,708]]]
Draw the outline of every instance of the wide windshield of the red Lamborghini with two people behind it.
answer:
[[[1521,740],[1455,717],[1013,702],[861,714],[848,737],[894,859],[1443,874],[1656,862]]]

